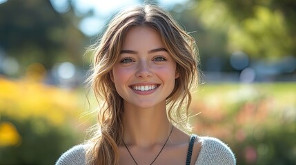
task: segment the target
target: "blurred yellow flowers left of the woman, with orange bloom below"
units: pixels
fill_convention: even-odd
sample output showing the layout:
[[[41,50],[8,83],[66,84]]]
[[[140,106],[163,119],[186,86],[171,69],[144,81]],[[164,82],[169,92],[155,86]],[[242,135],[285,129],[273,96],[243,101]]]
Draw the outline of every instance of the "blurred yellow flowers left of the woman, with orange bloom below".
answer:
[[[42,118],[52,126],[79,125],[83,110],[77,91],[60,89],[23,78],[8,80],[0,77],[0,146],[17,145],[21,137],[14,124],[3,121],[3,116],[16,121]],[[34,128],[42,133],[46,126],[33,120]]]

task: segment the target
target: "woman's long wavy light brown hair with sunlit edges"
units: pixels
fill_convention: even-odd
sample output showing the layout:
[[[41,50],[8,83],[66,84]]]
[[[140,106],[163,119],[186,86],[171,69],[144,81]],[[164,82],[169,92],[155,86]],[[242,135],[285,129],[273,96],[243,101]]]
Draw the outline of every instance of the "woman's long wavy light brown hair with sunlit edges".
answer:
[[[142,5],[119,12],[108,24],[106,32],[92,49],[94,58],[88,82],[99,109],[90,147],[86,151],[87,164],[119,164],[118,146],[124,133],[122,122],[123,99],[117,94],[110,72],[121,52],[126,32],[135,26],[148,26],[161,36],[168,53],[177,63],[179,78],[166,99],[169,120],[179,128],[188,128],[190,89],[198,83],[198,53],[195,40],[185,32],[170,14],[156,5]]]

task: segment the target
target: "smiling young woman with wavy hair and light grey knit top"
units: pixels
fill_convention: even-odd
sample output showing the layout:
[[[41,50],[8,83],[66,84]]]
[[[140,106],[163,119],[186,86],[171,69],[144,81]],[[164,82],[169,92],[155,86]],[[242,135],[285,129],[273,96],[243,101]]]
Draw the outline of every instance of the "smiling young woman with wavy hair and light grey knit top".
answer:
[[[57,164],[235,164],[213,137],[188,135],[195,41],[155,5],[124,10],[95,47],[90,84],[105,102],[97,131]]]

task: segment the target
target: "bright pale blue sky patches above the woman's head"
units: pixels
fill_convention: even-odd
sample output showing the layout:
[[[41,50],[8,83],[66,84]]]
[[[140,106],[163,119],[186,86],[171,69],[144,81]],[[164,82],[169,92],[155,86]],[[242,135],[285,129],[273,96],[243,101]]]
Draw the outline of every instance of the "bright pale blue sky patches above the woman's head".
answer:
[[[68,10],[68,0],[50,1],[58,12],[66,12]],[[186,3],[186,1],[188,0],[159,0],[159,5],[165,9],[170,9],[175,4]],[[86,36],[95,36],[106,25],[106,20],[113,12],[117,12],[121,8],[130,5],[137,5],[139,0],[72,0],[72,3],[75,5],[75,13],[78,16],[88,13],[90,10],[93,11],[92,16],[86,17],[79,23],[79,29]]]

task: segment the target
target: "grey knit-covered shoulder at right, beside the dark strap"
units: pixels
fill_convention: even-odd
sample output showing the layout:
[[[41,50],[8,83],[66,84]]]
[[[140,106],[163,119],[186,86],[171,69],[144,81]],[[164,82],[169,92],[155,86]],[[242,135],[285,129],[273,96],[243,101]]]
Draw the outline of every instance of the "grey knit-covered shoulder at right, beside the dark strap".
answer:
[[[198,137],[197,140],[201,150],[195,164],[236,164],[233,151],[221,140],[214,137]]]

